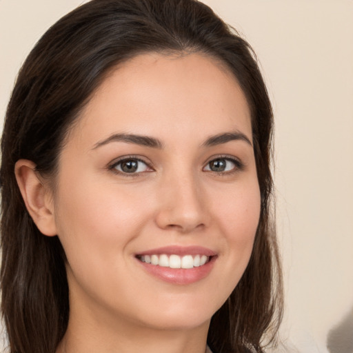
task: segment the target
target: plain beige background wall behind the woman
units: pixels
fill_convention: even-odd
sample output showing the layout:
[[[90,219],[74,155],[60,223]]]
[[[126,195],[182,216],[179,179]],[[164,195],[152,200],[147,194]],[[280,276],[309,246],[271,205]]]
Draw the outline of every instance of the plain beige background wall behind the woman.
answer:
[[[252,44],[274,104],[283,342],[352,353],[353,1],[204,2]],[[1,119],[35,41],[80,3],[0,0]]]

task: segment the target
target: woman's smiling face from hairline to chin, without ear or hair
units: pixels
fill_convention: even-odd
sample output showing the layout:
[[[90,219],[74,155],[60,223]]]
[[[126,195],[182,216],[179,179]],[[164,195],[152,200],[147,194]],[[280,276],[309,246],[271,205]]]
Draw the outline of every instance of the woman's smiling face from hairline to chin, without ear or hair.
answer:
[[[259,222],[239,84],[201,54],[119,66],[68,135],[54,197],[71,315],[208,323],[239,282]]]

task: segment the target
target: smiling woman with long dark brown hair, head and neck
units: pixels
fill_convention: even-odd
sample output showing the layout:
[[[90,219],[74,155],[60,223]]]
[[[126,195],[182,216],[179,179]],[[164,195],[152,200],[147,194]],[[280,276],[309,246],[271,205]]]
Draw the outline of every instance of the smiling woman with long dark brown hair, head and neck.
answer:
[[[264,352],[281,317],[271,135],[250,46],[203,3],[93,0],[59,20],[1,144],[10,352]]]

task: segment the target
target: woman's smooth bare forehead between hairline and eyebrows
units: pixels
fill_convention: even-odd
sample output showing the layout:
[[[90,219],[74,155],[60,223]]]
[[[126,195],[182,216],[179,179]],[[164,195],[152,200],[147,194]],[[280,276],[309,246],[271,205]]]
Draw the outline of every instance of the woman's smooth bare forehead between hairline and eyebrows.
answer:
[[[119,65],[76,127],[97,141],[116,132],[197,140],[228,130],[252,139],[250,110],[236,78],[216,59],[196,53],[140,54]]]

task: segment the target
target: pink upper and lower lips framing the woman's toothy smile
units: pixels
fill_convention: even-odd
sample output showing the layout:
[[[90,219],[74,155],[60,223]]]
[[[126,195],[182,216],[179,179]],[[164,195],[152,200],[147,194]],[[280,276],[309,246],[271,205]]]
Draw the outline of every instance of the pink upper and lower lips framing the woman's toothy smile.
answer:
[[[166,268],[159,265],[152,265],[151,263],[145,263],[140,261],[137,257],[140,255],[152,254],[176,254],[179,256],[200,254],[210,256],[210,261],[208,261],[208,263],[205,263],[205,265],[196,268],[184,269]],[[143,270],[148,272],[148,274],[154,276],[155,278],[161,281],[172,283],[175,285],[189,285],[201,281],[202,279],[205,279],[205,277],[207,277],[208,274],[210,274],[210,272],[212,271],[217,257],[218,256],[216,256],[216,252],[208,248],[203,248],[201,246],[167,246],[164,248],[156,248],[148,251],[143,251],[135,256],[136,261],[138,261],[139,265],[141,265]]]

